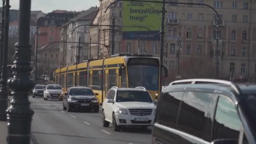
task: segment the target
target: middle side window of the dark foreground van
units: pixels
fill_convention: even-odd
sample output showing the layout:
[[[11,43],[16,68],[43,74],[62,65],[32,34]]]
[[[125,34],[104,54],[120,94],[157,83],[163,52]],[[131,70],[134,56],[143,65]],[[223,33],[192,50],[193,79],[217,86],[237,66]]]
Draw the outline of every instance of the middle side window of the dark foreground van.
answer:
[[[184,92],[178,129],[210,141],[213,104],[212,93]]]

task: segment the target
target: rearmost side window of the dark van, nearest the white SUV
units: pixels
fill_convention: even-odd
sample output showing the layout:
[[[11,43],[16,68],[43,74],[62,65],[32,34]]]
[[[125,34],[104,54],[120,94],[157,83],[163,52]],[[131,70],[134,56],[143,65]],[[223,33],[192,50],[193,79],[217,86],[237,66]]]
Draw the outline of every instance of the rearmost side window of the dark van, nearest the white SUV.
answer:
[[[160,96],[156,112],[157,123],[176,128],[176,122],[183,93],[183,91],[163,93]]]

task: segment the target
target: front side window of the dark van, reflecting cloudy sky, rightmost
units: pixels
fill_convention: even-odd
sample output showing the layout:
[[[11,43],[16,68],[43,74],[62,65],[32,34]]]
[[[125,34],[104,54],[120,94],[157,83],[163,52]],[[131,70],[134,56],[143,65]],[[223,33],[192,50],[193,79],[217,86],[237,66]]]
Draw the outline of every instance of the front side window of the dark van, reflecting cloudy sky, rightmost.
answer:
[[[235,104],[226,96],[220,96],[213,127],[213,139],[239,139],[242,124]]]

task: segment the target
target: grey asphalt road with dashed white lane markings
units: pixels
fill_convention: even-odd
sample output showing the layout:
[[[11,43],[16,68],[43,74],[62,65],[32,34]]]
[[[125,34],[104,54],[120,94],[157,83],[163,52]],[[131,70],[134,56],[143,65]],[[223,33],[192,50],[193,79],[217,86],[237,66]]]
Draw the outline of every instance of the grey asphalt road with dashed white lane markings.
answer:
[[[67,112],[62,101],[29,97],[35,111],[31,139],[34,144],[151,144],[151,127],[112,130],[104,128],[101,111]]]

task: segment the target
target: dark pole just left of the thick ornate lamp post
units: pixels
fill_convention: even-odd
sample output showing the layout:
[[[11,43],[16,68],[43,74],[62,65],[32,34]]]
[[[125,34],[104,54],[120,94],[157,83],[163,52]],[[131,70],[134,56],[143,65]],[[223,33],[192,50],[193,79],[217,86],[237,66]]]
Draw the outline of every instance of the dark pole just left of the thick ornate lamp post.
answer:
[[[5,16],[4,16],[4,41],[3,41],[3,59],[2,73],[1,73],[1,88],[0,88],[0,120],[6,121],[5,110],[8,107],[8,95],[7,95],[7,63],[8,63],[8,40],[9,40],[9,14],[10,14],[9,0],[5,0]]]

